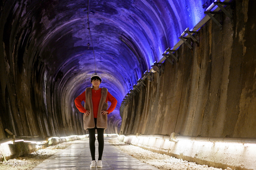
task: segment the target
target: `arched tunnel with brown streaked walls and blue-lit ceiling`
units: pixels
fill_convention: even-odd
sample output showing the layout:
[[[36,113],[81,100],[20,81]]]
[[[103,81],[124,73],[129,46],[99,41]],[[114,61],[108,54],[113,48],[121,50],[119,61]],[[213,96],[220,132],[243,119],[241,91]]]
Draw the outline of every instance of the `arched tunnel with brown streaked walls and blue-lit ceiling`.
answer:
[[[117,100],[106,134],[184,160],[256,169],[255,1],[0,3],[0,140],[86,135],[74,100],[98,72]],[[187,136],[235,138],[244,149],[229,162],[188,144],[189,154],[156,146],[160,139],[140,143],[154,135],[174,148],[173,138]],[[19,147],[28,146],[14,155]]]

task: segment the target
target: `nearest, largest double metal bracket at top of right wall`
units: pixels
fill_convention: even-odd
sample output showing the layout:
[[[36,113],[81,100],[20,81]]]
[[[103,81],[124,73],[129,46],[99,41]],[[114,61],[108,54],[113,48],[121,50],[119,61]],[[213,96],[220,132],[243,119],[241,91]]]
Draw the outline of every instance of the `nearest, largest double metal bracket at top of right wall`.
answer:
[[[221,2],[220,0],[216,1],[213,3],[214,5],[217,5],[220,10],[222,12],[224,12],[231,20],[233,19],[232,15],[230,13],[228,13],[227,10],[225,10],[225,8],[222,5],[232,5],[231,2]],[[212,18],[212,20],[220,27],[220,29],[222,29],[222,12],[212,12],[212,11],[205,11],[204,13],[207,14],[210,18]],[[217,21],[216,18],[213,17],[213,15],[215,14],[220,14],[220,22]]]

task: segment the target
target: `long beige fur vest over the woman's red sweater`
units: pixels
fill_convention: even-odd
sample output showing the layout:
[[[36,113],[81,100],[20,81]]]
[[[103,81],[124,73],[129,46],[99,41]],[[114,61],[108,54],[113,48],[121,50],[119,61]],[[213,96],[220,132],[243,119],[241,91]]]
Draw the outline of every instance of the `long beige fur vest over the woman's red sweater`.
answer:
[[[106,103],[108,95],[108,89],[102,87],[101,89],[101,98],[97,115],[97,128],[107,129],[107,114],[101,115],[102,110],[108,109],[108,103]],[[93,106],[92,106],[92,88],[88,87],[85,89],[85,104],[84,108],[90,111],[90,115],[86,116],[84,113],[84,129],[95,128],[94,116],[93,116]]]

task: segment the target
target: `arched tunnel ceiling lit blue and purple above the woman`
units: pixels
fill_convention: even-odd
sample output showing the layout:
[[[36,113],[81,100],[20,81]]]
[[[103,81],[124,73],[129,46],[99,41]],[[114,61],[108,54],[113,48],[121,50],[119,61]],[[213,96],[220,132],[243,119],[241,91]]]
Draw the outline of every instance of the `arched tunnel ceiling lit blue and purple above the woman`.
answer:
[[[90,86],[90,75],[96,70],[102,74],[101,86],[116,97],[119,107],[165,49],[173,47],[187,27],[204,17],[202,5],[211,2],[90,1],[90,36],[88,1],[4,1],[3,6],[9,6],[3,11],[9,15],[1,16],[7,21],[2,23],[4,34],[8,34],[4,37],[15,38],[3,40],[14,44],[10,53],[18,50],[19,71],[31,72],[31,79],[40,79],[43,89],[52,88],[55,98],[72,102]]]

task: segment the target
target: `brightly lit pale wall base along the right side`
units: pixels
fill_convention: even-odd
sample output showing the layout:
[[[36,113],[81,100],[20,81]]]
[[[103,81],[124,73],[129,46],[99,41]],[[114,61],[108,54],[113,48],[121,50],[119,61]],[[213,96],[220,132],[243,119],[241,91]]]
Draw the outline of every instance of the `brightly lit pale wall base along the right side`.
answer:
[[[174,143],[161,138],[119,136],[119,140],[202,165],[226,169],[256,169],[256,144],[183,141]]]

